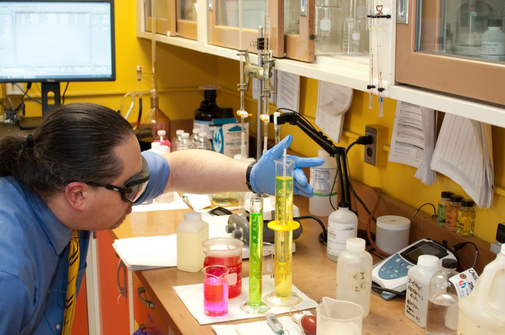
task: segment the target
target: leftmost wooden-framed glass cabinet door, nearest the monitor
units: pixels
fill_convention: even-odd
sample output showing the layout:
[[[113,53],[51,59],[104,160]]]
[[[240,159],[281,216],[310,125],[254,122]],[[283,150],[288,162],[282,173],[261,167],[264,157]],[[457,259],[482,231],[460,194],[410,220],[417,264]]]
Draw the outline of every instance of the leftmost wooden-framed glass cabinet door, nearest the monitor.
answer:
[[[144,1],[144,31],[153,31],[153,8],[151,2],[153,0]],[[156,33],[166,36],[175,36],[175,0],[156,0]]]

